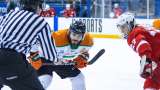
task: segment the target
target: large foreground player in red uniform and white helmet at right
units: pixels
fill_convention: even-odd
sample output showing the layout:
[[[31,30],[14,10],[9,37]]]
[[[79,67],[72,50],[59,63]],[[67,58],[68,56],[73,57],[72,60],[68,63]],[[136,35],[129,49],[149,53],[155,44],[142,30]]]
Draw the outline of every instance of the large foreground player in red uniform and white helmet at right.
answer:
[[[145,80],[144,90],[160,89],[160,32],[138,26],[134,16],[123,13],[117,19],[117,28],[122,38],[127,39],[128,45],[139,54],[141,59],[140,76]],[[156,68],[152,68],[155,62]]]

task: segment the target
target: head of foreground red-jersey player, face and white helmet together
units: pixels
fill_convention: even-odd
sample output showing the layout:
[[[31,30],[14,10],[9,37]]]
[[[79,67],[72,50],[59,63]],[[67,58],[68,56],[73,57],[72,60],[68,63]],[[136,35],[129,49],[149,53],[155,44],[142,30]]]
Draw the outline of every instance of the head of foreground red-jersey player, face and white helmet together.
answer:
[[[125,26],[127,26],[127,29],[124,28]],[[129,12],[123,13],[117,19],[117,29],[120,31],[120,37],[123,39],[127,39],[129,33],[135,28],[135,26],[135,18]]]

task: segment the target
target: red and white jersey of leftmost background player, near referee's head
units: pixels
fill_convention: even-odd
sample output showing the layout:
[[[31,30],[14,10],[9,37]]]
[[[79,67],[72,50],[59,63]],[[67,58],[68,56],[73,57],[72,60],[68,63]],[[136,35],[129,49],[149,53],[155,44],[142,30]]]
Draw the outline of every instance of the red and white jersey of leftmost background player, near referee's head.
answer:
[[[41,13],[41,16],[42,17],[56,17],[57,14],[56,14],[54,8],[50,8],[50,11],[43,11]]]

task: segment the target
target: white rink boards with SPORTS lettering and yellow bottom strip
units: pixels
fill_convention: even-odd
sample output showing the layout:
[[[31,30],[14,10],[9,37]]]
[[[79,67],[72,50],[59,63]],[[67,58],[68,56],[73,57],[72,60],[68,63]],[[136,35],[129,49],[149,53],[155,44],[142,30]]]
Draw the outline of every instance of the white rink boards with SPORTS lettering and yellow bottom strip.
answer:
[[[1,19],[1,17],[0,17]],[[54,31],[68,29],[74,20],[81,20],[86,24],[86,31],[95,38],[116,38],[120,39],[116,27],[117,19],[114,18],[64,18],[46,17],[45,20]],[[155,19],[136,19],[140,26],[152,28]]]

